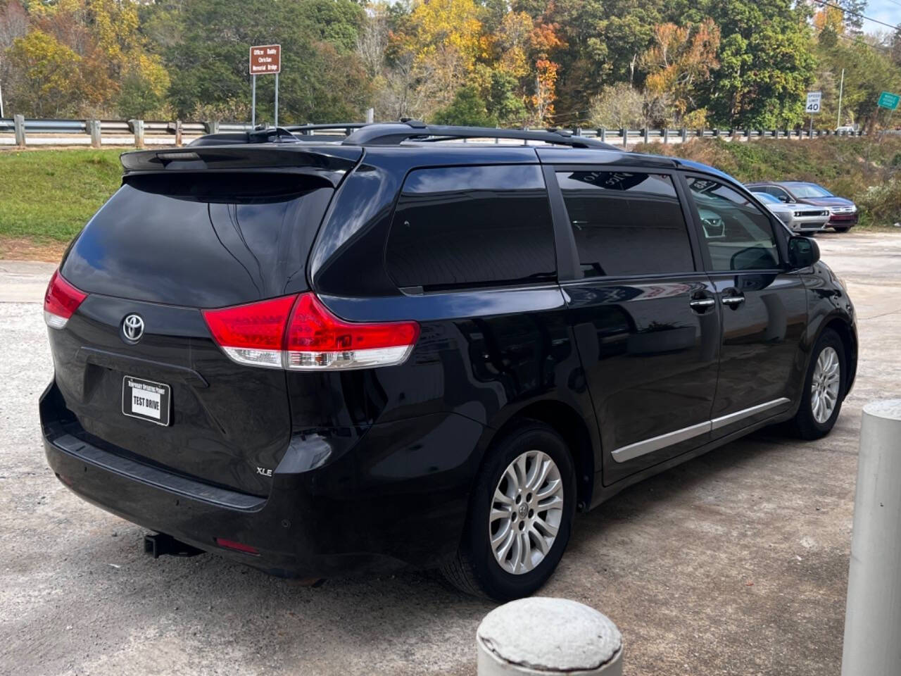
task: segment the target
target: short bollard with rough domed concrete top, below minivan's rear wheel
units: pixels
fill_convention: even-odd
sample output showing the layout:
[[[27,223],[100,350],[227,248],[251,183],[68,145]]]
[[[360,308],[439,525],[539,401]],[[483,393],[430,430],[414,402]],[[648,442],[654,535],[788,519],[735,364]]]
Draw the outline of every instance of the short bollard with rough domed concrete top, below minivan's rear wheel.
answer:
[[[496,607],[478,626],[476,650],[478,676],[623,674],[623,637],[614,623],[568,598]]]

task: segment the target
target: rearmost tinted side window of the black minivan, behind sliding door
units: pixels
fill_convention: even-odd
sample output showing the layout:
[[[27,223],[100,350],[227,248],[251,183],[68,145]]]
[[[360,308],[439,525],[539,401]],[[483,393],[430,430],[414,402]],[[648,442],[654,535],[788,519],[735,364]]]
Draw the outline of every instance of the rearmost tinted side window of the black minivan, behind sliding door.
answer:
[[[556,279],[542,169],[410,172],[391,223],[386,263],[398,287],[426,290]]]

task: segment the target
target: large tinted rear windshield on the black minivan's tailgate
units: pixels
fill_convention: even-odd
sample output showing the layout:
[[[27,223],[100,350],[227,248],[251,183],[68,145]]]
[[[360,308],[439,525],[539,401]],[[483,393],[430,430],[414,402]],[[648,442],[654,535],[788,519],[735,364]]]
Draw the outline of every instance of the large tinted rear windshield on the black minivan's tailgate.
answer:
[[[296,174],[129,177],[62,268],[90,293],[218,307],[305,290],[332,187]]]

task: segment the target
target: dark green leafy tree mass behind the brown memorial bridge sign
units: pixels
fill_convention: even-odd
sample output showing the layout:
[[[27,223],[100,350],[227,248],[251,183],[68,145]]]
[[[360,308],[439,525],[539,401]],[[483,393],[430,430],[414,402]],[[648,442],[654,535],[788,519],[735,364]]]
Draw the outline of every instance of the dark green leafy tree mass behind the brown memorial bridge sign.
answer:
[[[360,9],[350,0],[332,5],[323,9],[322,0],[192,0],[183,5],[178,15],[182,40],[166,50],[169,98],[177,114],[190,116],[198,105],[226,117],[243,114],[250,103],[248,48],[278,42],[279,122],[359,119],[369,100],[369,79],[351,51]],[[272,120],[274,80],[257,78],[259,120]]]

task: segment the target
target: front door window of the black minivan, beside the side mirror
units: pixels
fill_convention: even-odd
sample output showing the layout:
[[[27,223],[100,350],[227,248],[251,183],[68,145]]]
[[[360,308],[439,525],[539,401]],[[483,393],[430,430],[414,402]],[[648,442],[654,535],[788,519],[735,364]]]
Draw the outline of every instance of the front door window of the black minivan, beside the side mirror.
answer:
[[[687,177],[714,270],[778,268],[769,216],[731,187]]]

